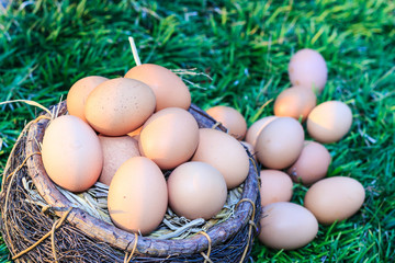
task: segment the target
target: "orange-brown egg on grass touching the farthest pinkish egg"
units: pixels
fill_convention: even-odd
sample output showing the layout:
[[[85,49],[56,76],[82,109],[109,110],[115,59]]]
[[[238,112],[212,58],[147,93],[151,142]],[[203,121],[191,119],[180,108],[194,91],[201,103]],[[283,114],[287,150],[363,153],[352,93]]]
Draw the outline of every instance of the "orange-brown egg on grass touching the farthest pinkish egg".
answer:
[[[274,101],[274,115],[295,119],[302,118],[304,122],[316,103],[317,98],[313,90],[295,85],[278,95]]]

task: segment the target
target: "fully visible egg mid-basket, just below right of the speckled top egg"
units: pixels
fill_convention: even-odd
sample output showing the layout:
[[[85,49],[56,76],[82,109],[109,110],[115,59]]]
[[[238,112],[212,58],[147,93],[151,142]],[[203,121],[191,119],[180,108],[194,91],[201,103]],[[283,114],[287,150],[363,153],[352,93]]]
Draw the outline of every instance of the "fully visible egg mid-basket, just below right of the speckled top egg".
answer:
[[[173,169],[188,161],[199,144],[199,126],[188,111],[167,107],[144,124],[139,150],[161,169]]]

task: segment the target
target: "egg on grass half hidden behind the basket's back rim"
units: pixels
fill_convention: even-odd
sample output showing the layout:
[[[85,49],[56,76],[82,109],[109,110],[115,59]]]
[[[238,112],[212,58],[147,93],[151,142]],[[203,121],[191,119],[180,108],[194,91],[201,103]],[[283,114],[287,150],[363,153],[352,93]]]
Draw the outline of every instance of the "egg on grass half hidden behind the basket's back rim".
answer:
[[[247,123],[241,113],[229,106],[214,106],[206,113],[228,129],[228,134],[238,140],[244,139],[247,133]]]

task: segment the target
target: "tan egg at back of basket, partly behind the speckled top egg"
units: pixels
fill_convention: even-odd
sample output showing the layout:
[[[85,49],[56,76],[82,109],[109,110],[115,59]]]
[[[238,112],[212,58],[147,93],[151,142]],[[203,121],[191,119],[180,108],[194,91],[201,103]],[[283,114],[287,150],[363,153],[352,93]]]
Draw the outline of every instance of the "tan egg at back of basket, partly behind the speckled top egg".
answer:
[[[165,107],[188,110],[191,105],[191,93],[180,77],[154,64],[143,64],[126,72],[125,78],[136,79],[148,84],[157,99],[156,112]]]

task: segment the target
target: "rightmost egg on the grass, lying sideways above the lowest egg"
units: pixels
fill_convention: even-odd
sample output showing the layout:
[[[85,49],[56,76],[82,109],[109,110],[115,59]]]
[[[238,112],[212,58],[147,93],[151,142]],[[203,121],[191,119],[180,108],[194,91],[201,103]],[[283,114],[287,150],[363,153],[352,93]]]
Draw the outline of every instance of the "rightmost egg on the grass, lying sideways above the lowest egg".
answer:
[[[362,206],[365,191],[360,182],[346,176],[323,179],[313,184],[304,198],[304,206],[323,225],[351,217]]]

